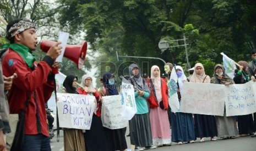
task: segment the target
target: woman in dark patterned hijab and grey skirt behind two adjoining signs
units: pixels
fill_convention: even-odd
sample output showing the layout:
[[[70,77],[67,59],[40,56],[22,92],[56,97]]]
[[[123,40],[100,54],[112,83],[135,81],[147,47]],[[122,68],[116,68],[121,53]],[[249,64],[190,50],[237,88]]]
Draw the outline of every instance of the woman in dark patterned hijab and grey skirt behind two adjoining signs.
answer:
[[[228,77],[222,65],[217,64],[214,67],[214,77],[211,78],[211,83],[230,85],[235,84],[232,78]],[[236,138],[238,130],[236,126],[235,116],[227,117],[224,108],[223,116],[215,116],[218,137],[226,140],[227,138]]]

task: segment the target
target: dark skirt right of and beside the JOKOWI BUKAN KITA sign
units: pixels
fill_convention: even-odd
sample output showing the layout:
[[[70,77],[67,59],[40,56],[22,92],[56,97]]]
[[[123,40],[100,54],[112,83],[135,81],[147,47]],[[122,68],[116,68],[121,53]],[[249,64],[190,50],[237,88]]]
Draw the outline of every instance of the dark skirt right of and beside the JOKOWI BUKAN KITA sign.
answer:
[[[103,136],[101,118],[94,114],[91,121],[91,129],[86,130],[84,133],[86,151],[105,151],[106,144]]]

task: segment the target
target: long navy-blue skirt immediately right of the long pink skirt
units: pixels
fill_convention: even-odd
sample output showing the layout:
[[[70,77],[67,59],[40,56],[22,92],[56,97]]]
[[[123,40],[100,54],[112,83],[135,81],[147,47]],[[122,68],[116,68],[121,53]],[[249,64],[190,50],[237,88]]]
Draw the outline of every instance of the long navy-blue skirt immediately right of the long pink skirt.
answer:
[[[172,142],[194,141],[194,121],[192,114],[172,112]]]

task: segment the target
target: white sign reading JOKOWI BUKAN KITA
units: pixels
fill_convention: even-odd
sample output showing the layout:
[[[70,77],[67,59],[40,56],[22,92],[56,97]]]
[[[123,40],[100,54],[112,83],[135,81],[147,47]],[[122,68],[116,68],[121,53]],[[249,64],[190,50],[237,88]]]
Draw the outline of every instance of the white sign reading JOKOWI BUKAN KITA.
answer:
[[[59,127],[90,130],[95,97],[57,93]]]

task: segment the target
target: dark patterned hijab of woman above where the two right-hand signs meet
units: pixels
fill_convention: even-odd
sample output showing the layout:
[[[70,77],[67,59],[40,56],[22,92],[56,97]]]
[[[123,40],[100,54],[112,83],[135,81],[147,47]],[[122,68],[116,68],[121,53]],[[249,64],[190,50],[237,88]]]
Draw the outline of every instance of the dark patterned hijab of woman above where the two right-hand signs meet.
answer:
[[[216,75],[216,68],[217,67],[221,67],[222,68],[222,78],[218,79],[218,75]],[[235,84],[235,82],[233,81],[232,78],[228,77],[228,75],[225,73],[225,69],[221,64],[217,64],[214,67],[214,77],[211,78],[211,83],[215,83],[215,84],[225,84],[225,83],[230,83],[230,84]]]

